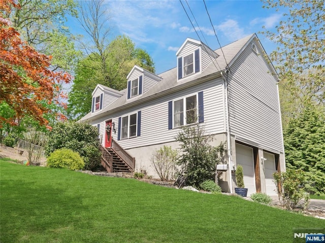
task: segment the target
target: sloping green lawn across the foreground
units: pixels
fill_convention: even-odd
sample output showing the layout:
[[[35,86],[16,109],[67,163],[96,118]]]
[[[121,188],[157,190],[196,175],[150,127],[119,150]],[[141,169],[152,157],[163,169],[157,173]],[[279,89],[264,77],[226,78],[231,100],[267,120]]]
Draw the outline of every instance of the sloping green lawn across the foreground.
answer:
[[[164,188],[0,159],[1,237],[9,242],[292,242],[325,220],[235,196]]]

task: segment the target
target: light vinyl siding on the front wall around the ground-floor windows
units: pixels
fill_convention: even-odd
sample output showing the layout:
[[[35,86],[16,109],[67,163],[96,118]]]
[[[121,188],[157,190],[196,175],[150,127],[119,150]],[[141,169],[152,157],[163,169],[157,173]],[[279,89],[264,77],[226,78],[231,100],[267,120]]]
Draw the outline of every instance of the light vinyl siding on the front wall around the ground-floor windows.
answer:
[[[175,136],[180,129],[168,129],[168,102],[176,100],[178,97],[197,94],[200,91],[203,91],[204,98],[203,124],[206,134],[225,132],[223,81],[213,80],[197,85],[197,87],[187,88],[181,92],[156,99],[154,102],[148,102],[132,110],[128,109],[123,111],[123,113],[114,114],[112,122],[115,122],[115,127],[117,127],[118,117],[124,117],[125,114],[134,114],[141,110],[141,136],[130,140],[123,140],[121,138],[118,141],[119,145],[124,149],[129,149],[175,141]],[[113,133],[115,141],[117,141],[117,135],[117,132],[116,134]]]

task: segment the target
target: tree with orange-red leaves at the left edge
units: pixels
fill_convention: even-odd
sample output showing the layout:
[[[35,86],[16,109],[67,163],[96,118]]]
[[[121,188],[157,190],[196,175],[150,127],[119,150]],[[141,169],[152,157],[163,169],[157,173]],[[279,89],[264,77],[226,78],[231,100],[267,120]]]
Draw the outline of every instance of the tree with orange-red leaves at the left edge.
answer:
[[[0,1],[0,103],[7,102],[16,114],[10,119],[0,116],[0,120],[16,125],[28,115],[47,125],[44,114],[52,112],[48,108],[52,102],[64,107],[60,98],[64,94],[59,87],[72,77],[50,71],[51,57],[38,53],[20,39],[6,18],[11,7],[19,8],[14,0]],[[62,114],[55,115],[62,118]]]

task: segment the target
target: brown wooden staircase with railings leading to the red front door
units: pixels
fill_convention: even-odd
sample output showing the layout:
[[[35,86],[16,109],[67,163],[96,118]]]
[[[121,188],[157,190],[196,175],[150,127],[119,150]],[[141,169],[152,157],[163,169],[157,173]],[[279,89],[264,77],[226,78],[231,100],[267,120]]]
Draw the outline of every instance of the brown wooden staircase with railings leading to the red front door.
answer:
[[[136,160],[112,139],[112,147],[100,147],[101,164],[107,172],[133,172]]]

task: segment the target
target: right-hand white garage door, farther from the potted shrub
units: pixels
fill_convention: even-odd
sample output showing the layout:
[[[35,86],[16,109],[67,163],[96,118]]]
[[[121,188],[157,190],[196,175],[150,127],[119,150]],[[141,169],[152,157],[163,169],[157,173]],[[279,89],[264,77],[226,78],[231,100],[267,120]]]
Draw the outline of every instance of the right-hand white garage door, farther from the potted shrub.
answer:
[[[266,185],[266,194],[269,196],[276,196],[276,186],[273,182],[273,173],[275,172],[275,159],[274,154],[267,152],[263,153],[264,158],[264,175],[265,175],[265,185]]]

